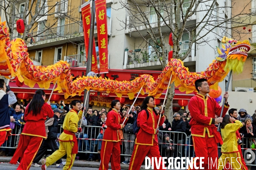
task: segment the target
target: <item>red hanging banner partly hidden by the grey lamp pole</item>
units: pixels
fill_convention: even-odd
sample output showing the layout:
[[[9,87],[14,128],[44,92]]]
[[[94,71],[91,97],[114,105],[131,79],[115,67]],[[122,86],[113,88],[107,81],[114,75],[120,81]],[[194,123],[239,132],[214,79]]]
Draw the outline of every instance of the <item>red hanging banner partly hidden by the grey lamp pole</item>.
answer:
[[[89,37],[90,37],[90,18],[91,18],[90,1],[82,5],[81,11],[82,11],[82,20],[83,20],[83,28],[84,28],[84,45],[85,45],[86,59],[87,59],[88,48],[89,48]],[[97,55],[96,55],[94,37],[93,37],[93,56],[92,56],[91,71],[98,74]]]

